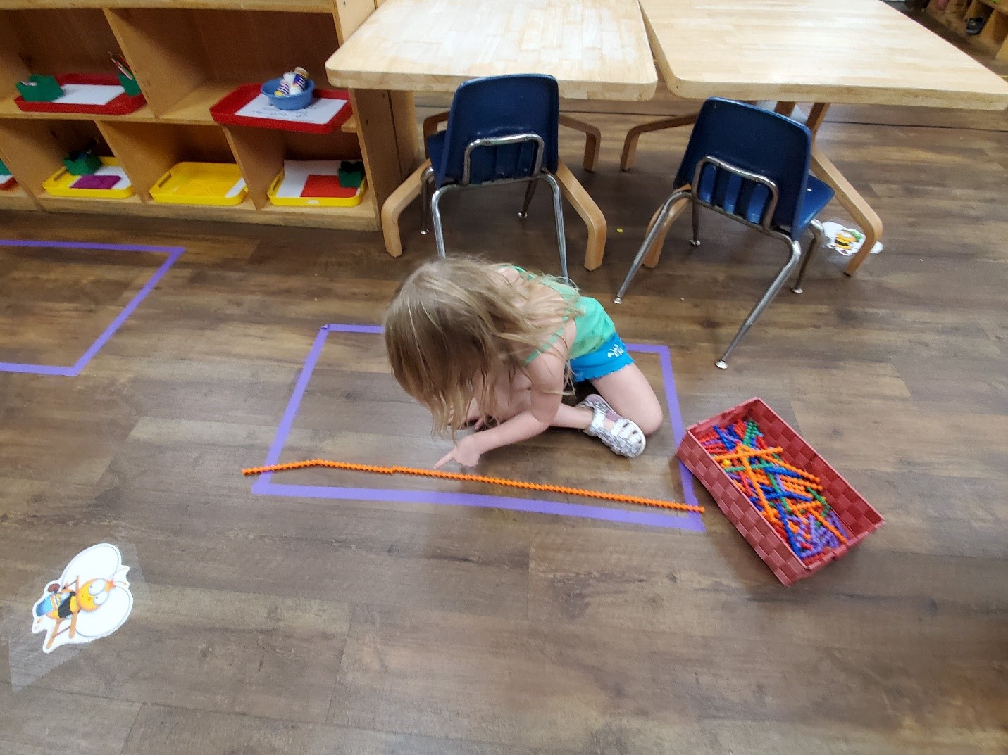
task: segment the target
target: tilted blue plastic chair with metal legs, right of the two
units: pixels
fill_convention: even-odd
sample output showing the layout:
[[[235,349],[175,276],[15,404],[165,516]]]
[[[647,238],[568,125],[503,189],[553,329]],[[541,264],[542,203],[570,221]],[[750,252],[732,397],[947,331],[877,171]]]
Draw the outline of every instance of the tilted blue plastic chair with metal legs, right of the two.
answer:
[[[814,239],[791,289],[796,294],[801,293],[812,250],[823,240],[823,226],[815,215],[833,198],[833,189],[808,173],[811,143],[811,132],[804,125],[777,113],[721,98],[704,103],[675,174],[675,190],[661,205],[613,301],[619,304],[623,300],[662,223],[680,199],[688,198],[692,204],[689,243],[695,247],[700,246],[701,207],[784,242],[790,256],[716,362],[725,369],[728,355],[798,266],[802,234],[811,228]]]

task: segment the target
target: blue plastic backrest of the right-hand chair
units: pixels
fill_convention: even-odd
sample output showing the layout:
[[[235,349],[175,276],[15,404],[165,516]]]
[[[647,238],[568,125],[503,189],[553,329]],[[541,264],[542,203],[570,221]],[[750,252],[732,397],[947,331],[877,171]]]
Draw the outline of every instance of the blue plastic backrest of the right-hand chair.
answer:
[[[692,183],[698,163],[712,157],[743,171],[769,178],[777,187],[777,205],[768,224],[792,230],[808,180],[811,132],[778,113],[732,100],[711,98],[701,108],[675,187]],[[705,201],[750,222],[759,223],[771,192],[750,180],[707,163],[694,190]]]

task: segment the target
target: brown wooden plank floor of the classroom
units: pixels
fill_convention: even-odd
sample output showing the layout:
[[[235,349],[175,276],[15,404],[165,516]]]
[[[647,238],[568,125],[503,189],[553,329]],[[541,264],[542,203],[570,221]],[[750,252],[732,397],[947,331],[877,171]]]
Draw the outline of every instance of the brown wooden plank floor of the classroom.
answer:
[[[608,301],[686,133],[645,137],[621,174],[645,117],[585,118],[605,138],[583,178],[610,243],[601,269],[572,269]],[[0,372],[0,753],[1008,751],[1006,131],[1005,114],[839,109],[823,144],[884,218],[885,251],[853,279],[821,254],[727,371],[713,361],[779,265],[762,238],[705,216],[694,250],[680,223],[610,307],[626,340],[671,348],[687,422],[761,396],[886,517],[790,589],[716,508],[697,533],[250,492],[239,469],[265,457],[319,327],[378,322],[433,254],[417,213],[398,261],[377,234],[5,214],[4,238],[186,252],[80,376]],[[579,163],[570,132],[563,151]],[[552,269],[547,198],[520,224],[520,195],[450,195],[449,248]],[[145,257],[0,247],[0,360],[71,363]],[[284,458],[435,460],[379,339],[331,339]],[[680,495],[672,450],[664,430],[630,463],[557,431],[484,468]],[[31,604],[99,542],[132,567],[133,614],[43,657]]]

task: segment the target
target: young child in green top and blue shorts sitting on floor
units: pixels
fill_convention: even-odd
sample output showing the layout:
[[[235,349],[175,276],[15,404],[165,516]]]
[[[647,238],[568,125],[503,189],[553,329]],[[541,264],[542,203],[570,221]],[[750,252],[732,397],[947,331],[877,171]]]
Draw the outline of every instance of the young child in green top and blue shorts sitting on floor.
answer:
[[[661,405],[595,299],[555,278],[467,258],[432,260],[399,288],[385,345],[402,389],[439,433],[459,438],[434,467],[475,466],[487,451],[548,427],[582,430],[634,458],[661,426]],[[597,394],[561,402],[570,382]]]

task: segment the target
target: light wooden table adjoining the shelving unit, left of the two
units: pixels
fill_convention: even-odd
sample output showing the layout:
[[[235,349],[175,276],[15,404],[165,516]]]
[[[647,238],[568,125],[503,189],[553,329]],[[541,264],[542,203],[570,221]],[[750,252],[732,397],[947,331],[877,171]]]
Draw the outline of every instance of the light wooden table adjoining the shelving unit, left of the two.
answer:
[[[658,81],[636,0],[386,0],[326,68],[338,87],[446,93],[476,77],[549,73],[560,97],[580,100],[650,100]],[[427,164],[382,207],[393,257],[402,254],[399,214],[419,194]],[[562,162],[556,177],[589,226],[585,267],[594,270],[605,217]]]

